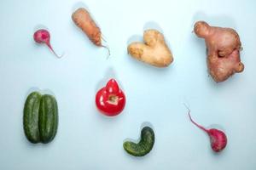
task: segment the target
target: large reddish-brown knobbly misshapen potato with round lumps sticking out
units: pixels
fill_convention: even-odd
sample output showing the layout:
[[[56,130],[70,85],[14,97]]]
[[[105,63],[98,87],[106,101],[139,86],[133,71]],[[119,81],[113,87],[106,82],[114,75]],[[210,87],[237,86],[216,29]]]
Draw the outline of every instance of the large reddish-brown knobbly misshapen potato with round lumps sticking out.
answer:
[[[224,82],[235,73],[242,72],[240,37],[234,29],[209,26],[205,21],[195,23],[197,37],[205,39],[207,66],[215,82]]]

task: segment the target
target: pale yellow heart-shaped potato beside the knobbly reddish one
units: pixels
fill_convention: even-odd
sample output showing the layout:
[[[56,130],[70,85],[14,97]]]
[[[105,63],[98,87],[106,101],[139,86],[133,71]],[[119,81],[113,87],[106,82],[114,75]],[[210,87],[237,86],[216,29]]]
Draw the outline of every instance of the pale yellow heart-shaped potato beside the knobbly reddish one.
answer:
[[[137,60],[156,67],[167,67],[172,63],[172,52],[167,47],[165,37],[160,31],[144,31],[143,41],[132,42],[127,48],[128,54],[131,54]]]

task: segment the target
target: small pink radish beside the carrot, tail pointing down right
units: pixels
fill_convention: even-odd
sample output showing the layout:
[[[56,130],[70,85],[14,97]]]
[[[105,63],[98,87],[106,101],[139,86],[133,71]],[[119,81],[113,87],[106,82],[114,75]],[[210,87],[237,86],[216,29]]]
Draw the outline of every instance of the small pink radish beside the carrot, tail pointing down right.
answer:
[[[45,43],[48,46],[48,48],[55,54],[55,51],[53,50],[53,48],[51,47],[50,42],[49,42],[49,40],[50,40],[49,31],[44,30],[44,29],[36,31],[34,33],[34,40],[35,40],[35,42],[38,42],[38,43]],[[57,54],[55,54],[55,56],[57,58],[62,57],[62,55],[59,56]]]

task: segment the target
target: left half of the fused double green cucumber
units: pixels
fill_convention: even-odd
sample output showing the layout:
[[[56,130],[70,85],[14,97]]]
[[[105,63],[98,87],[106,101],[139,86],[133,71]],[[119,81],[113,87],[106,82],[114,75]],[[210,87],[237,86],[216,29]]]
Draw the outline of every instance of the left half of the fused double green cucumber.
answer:
[[[33,92],[26,99],[23,114],[23,127],[26,138],[36,144],[40,141],[38,130],[38,113],[41,94]]]

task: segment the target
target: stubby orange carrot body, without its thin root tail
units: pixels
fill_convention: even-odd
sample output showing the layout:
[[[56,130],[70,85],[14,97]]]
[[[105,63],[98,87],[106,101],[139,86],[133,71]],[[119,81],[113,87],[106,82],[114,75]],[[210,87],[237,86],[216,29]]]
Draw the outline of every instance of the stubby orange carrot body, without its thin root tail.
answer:
[[[89,12],[85,8],[78,8],[72,14],[72,20],[96,46],[102,47],[102,31],[96,26]]]

